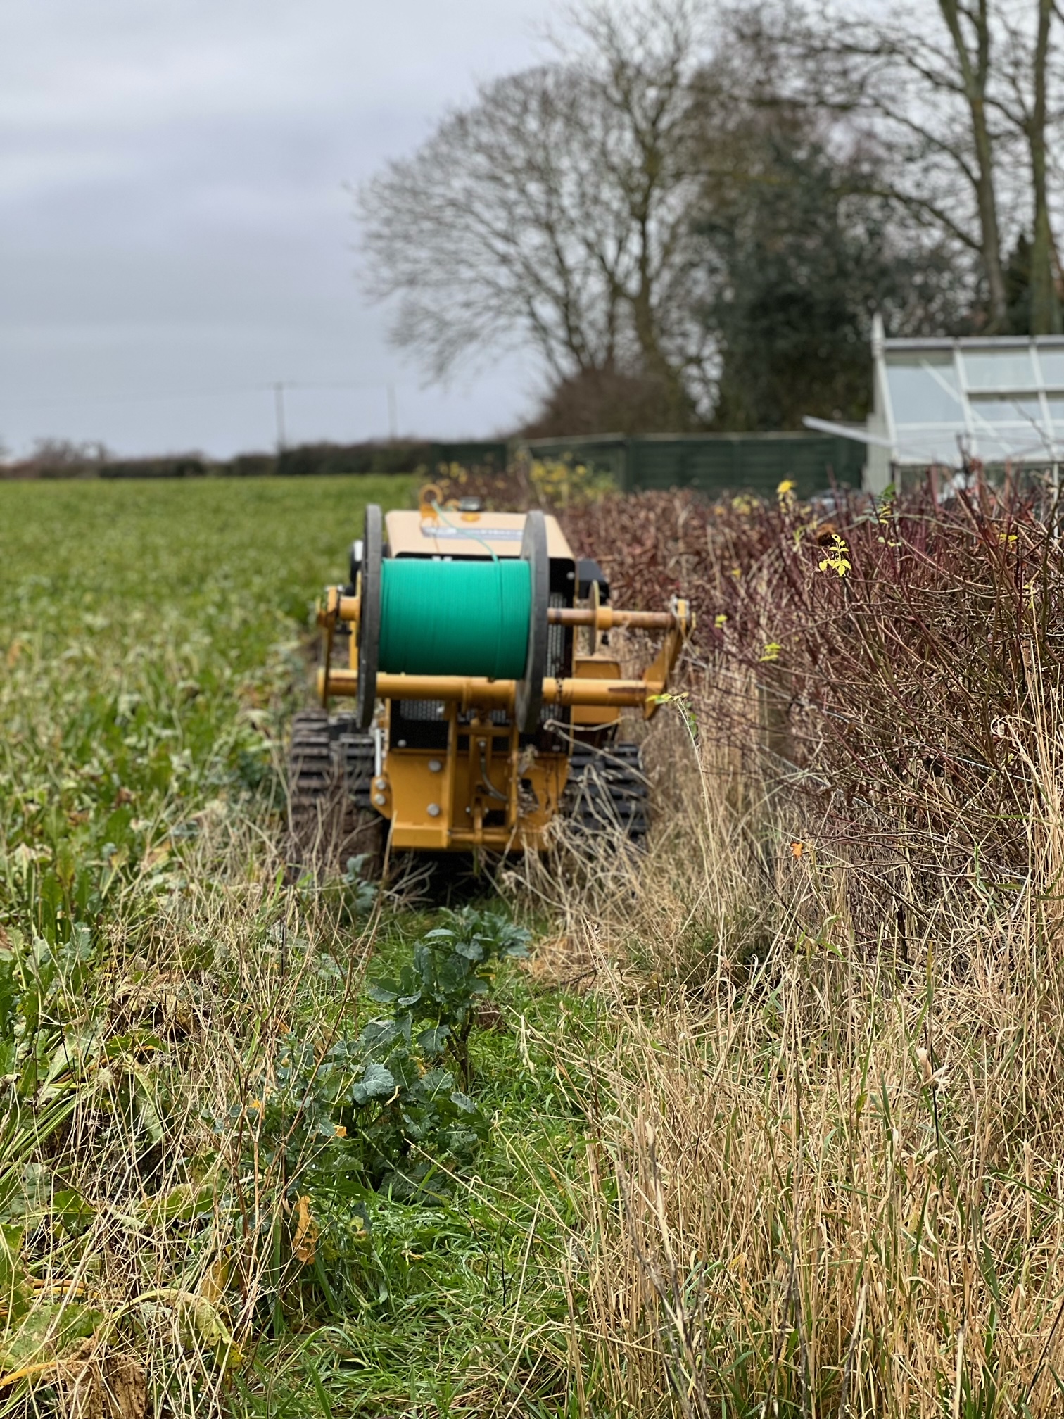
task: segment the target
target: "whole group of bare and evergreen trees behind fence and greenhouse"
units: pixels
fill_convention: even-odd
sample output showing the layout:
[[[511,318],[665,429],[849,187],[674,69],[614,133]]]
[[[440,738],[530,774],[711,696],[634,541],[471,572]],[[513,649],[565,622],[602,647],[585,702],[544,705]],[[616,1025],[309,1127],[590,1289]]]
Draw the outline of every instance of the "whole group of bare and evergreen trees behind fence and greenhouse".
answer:
[[[584,0],[360,193],[430,376],[532,348],[529,434],[861,419],[868,341],[1055,333],[1055,0]]]

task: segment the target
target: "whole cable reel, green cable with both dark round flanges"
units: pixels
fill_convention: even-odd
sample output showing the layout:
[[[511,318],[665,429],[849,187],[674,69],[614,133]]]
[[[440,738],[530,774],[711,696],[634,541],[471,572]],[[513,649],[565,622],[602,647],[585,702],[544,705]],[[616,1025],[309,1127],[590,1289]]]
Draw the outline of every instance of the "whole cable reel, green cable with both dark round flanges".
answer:
[[[366,508],[356,718],[373,722],[377,674],[516,680],[516,719],[535,734],[546,673],[546,519],[529,512],[518,558],[384,558],[383,517]]]

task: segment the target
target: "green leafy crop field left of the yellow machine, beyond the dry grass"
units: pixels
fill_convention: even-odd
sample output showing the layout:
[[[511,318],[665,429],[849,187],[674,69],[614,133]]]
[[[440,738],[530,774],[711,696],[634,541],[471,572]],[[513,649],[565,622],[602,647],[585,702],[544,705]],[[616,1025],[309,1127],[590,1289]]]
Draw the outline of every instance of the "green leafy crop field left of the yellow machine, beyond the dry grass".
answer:
[[[309,607],[365,502],[407,495],[401,478],[0,485],[0,921],[27,907],[17,864],[52,932],[272,772]]]

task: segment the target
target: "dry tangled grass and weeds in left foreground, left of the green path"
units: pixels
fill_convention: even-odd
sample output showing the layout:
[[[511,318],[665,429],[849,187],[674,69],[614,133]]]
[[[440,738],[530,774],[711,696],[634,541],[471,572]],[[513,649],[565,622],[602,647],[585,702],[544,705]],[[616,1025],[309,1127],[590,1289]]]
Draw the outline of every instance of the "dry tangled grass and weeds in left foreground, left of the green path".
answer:
[[[67,1002],[81,1083],[64,1120],[43,1128],[47,1084],[21,1131],[9,1118],[4,1206],[21,1225],[3,1230],[0,1266],[28,1362],[9,1344],[0,1413],[244,1412],[233,1378],[260,1392],[254,1349],[282,1296],[292,1324],[306,1243],[301,1257],[294,1176],[284,1152],[260,1154],[257,1100],[297,1016],[328,1046],[373,920],[340,929],[336,902],[285,884],[270,834],[237,815],[201,815],[183,868],[182,890],[131,918],[112,969]],[[346,978],[318,969],[323,952]]]

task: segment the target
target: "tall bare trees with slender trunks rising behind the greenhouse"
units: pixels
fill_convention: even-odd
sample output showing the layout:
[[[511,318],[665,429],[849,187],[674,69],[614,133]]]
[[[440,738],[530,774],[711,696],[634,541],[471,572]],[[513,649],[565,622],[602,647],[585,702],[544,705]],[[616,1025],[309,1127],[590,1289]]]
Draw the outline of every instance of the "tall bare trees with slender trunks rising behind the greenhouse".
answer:
[[[773,55],[772,101],[864,125],[892,158],[875,190],[975,258],[990,331],[1007,329],[1004,251],[1029,213],[1033,328],[1058,328],[1046,169],[1055,13],[1055,0],[935,0],[885,16],[853,0],[783,0],[746,26]]]

